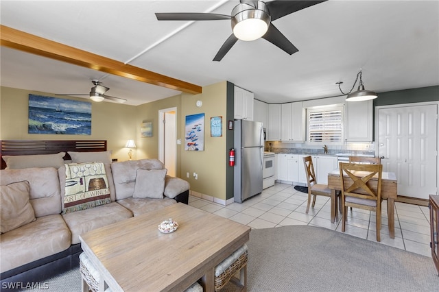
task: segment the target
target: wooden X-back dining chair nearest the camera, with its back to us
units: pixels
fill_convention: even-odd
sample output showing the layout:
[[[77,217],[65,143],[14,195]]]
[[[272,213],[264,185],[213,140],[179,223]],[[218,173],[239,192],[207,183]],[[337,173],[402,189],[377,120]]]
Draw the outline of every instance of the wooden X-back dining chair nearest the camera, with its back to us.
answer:
[[[340,162],[342,178],[342,232],[346,229],[348,207],[375,211],[377,241],[381,241],[381,174],[383,165]],[[373,178],[373,180],[372,180]],[[377,178],[375,180],[375,178]]]

